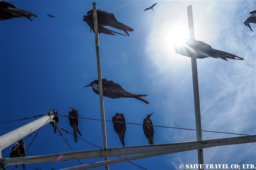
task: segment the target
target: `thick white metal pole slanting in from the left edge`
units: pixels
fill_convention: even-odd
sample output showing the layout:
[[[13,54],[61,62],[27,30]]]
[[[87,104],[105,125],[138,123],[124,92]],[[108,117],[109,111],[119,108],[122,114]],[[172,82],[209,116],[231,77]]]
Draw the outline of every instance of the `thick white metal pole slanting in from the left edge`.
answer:
[[[54,116],[52,115],[51,117],[53,118]],[[18,140],[24,138],[26,135],[29,135],[30,133],[46,125],[50,122],[50,120],[51,118],[49,116],[44,116],[24,126],[21,126],[20,128],[15,129],[14,131],[11,131],[7,134],[0,136],[1,150],[4,150],[6,147],[11,146]]]

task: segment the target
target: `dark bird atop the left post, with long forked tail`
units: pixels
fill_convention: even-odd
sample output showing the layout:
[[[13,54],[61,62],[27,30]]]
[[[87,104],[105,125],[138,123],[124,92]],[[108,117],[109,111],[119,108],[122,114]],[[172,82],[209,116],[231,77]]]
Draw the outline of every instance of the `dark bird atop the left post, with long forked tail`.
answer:
[[[84,20],[89,26],[90,26],[90,31],[93,30],[94,32],[94,20],[93,20],[93,10],[88,11],[87,15],[84,16]],[[98,33],[104,33],[108,35],[114,35],[114,32],[112,30],[109,30],[105,28],[104,26],[110,26],[119,30],[122,30],[127,34],[127,36],[130,36],[127,31],[134,31],[131,27],[126,26],[123,23],[120,23],[114,14],[105,12],[104,10],[97,10],[97,21],[98,21]],[[120,34],[120,33],[117,33]],[[123,34],[120,34],[123,35]]]

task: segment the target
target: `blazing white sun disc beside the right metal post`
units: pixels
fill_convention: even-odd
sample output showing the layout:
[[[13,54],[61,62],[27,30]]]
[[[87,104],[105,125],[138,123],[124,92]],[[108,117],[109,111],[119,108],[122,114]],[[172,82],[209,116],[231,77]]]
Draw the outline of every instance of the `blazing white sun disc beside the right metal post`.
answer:
[[[189,29],[184,26],[173,27],[166,36],[166,44],[174,50],[175,44],[181,44],[184,40],[189,39]]]

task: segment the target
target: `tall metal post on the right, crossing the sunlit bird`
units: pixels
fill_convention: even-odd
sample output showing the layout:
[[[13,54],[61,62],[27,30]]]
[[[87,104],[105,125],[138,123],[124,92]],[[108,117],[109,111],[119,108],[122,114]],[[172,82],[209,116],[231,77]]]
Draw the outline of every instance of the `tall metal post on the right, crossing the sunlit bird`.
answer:
[[[192,5],[187,7],[187,18],[189,23],[189,38],[195,40],[194,34],[194,21]],[[194,90],[194,104],[195,104],[195,126],[197,130],[197,141],[202,140],[201,129],[201,115],[200,115],[200,102],[199,102],[199,89],[198,89],[198,77],[197,77],[197,56],[195,49],[195,41],[193,41],[192,50],[190,52],[191,64],[192,64],[192,78],[193,78],[193,90]],[[204,164],[203,149],[198,149],[198,164]],[[203,169],[202,169],[203,170]]]

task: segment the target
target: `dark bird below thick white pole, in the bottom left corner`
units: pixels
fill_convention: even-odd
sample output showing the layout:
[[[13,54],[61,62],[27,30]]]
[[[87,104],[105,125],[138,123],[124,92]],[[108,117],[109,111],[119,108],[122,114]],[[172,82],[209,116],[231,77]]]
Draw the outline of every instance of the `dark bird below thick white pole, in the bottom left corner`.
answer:
[[[19,158],[19,157],[25,157],[25,152],[26,152],[26,147],[25,144],[23,142],[23,139],[17,141],[14,145],[14,147],[12,147],[12,151],[10,153],[10,158]],[[26,167],[24,164],[21,164],[23,170],[26,170]],[[16,168],[17,165],[15,165]]]

